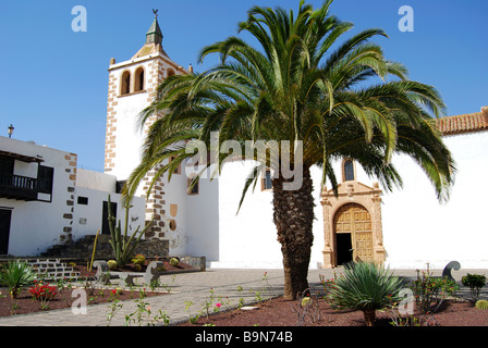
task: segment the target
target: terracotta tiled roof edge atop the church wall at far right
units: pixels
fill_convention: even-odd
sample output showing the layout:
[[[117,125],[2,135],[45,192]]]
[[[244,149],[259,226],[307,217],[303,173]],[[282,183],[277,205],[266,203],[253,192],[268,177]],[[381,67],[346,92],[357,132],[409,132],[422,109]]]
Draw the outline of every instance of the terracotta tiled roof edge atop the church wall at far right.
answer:
[[[488,130],[488,107],[480,112],[441,117],[437,126],[443,135]]]

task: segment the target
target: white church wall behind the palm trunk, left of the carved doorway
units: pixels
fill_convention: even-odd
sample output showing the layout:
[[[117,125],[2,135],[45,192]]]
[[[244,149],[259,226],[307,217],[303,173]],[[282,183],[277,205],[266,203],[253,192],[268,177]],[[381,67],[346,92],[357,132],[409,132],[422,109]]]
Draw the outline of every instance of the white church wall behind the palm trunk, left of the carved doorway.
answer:
[[[252,162],[230,162],[219,176],[219,258],[209,262],[210,268],[282,268],[281,245],[277,240],[273,223],[272,191],[261,190],[260,179],[255,190],[246,194],[241,210],[239,202]],[[313,170],[318,179],[319,170]],[[319,182],[314,184],[314,245],[310,268],[319,268],[324,249],[324,223],[319,204]],[[314,181],[315,183],[315,181]]]

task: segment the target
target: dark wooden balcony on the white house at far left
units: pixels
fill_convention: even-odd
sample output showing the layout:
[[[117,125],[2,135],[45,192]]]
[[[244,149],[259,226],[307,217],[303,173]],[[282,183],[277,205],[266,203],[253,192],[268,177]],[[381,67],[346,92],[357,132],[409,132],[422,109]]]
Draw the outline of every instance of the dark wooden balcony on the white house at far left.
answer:
[[[0,198],[16,200],[37,199],[37,178],[14,174],[0,174]]]

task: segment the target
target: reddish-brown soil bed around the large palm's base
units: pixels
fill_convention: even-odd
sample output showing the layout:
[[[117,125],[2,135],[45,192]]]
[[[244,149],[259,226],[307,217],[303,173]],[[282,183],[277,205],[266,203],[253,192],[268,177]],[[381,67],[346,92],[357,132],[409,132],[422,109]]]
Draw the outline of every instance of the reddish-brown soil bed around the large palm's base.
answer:
[[[325,300],[317,303],[318,310],[309,311],[302,321],[298,321],[296,301],[276,298],[256,304],[255,310],[235,309],[208,319],[203,316],[196,324],[186,322],[180,326],[365,326],[361,311],[335,310]],[[315,314],[316,320],[310,314]],[[375,326],[392,326],[395,316],[391,311],[377,311]],[[488,326],[488,310],[477,309],[468,301],[447,300],[437,312],[427,315],[415,313],[414,316],[422,326]]]

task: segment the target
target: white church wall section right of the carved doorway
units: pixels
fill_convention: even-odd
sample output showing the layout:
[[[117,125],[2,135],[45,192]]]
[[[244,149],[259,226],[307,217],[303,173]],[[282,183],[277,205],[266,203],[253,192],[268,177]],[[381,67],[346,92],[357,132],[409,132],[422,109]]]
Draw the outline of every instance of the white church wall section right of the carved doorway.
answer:
[[[382,223],[387,263],[392,268],[488,266],[486,215],[488,173],[486,132],[444,137],[459,173],[450,200],[440,204],[430,182],[413,160],[395,157],[402,190],[383,196]]]

